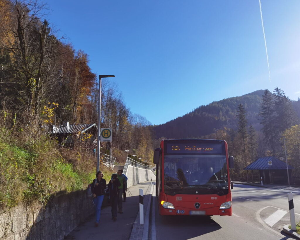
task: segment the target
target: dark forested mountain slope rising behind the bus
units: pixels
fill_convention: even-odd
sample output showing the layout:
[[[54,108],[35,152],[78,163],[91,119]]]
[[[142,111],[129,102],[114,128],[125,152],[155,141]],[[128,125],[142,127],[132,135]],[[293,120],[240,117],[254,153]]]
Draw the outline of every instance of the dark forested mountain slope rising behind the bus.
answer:
[[[240,97],[226,98],[202,105],[182,117],[165,124],[154,126],[155,137],[169,138],[200,138],[224,127],[237,130],[237,109],[242,104],[247,113],[248,125],[260,131],[259,107],[264,90],[254,91]],[[300,116],[300,101],[293,101],[293,107]]]

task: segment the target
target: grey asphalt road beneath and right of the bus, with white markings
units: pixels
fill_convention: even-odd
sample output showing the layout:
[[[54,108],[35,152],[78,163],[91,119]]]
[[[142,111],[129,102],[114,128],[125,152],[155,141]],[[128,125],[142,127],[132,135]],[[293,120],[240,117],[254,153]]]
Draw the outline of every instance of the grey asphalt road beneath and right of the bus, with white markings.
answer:
[[[152,240],[292,239],[282,232],[289,224],[287,194],[280,190],[234,184],[232,216],[160,216],[155,202]],[[300,191],[293,190],[296,222],[300,221]],[[153,199],[154,200],[154,199]]]

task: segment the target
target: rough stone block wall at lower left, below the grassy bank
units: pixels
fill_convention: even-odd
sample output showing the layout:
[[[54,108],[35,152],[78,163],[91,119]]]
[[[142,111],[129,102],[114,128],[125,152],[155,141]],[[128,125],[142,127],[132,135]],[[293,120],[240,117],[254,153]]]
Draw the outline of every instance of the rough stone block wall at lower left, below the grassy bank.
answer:
[[[0,239],[64,239],[93,213],[92,200],[83,190],[53,197],[45,208],[19,205],[0,213]]]

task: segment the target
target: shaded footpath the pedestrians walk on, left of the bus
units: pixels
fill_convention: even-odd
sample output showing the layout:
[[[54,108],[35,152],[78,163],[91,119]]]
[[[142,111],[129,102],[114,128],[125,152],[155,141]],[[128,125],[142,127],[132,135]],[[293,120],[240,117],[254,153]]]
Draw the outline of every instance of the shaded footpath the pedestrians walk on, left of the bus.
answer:
[[[126,202],[123,202],[124,213],[118,213],[116,222],[111,219],[111,206],[107,206],[101,210],[98,227],[95,227],[94,214],[86,222],[76,227],[65,239],[110,239],[113,236],[118,240],[128,240],[139,211],[139,189],[143,189],[145,194],[150,184],[151,182],[143,182],[128,188],[132,194],[129,196],[126,192]]]

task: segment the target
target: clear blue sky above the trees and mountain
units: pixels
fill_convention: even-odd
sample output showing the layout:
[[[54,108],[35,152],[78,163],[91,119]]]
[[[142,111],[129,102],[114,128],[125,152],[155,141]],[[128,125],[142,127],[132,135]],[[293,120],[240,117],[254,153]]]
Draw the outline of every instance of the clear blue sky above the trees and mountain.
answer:
[[[46,1],[58,36],[113,74],[126,106],[162,124],[224,98],[276,86],[300,97],[300,1]]]

